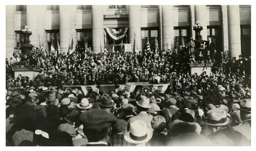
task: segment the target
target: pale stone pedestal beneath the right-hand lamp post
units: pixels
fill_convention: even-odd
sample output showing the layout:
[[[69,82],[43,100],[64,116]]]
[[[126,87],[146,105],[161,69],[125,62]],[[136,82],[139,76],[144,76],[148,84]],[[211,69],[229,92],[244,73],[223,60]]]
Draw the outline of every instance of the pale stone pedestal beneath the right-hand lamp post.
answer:
[[[204,68],[204,63],[190,63],[190,76],[194,73],[197,73],[197,75],[201,75],[204,71],[206,71],[206,75],[210,76],[211,70],[212,70],[213,63],[208,63],[207,69]]]

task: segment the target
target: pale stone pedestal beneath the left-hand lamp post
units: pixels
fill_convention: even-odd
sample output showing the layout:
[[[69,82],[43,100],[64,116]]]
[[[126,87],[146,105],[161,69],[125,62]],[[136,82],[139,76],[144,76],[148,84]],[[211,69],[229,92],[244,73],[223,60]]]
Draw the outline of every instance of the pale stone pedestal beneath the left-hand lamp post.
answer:
[[[22,76],[28,76],[30,80],[34,80],[34,78],[40,72],[40,69],[32,67],[15,67],[12,68],[12,71],[14,71],[14,77],[17,77],[19,74],[21,74]]]

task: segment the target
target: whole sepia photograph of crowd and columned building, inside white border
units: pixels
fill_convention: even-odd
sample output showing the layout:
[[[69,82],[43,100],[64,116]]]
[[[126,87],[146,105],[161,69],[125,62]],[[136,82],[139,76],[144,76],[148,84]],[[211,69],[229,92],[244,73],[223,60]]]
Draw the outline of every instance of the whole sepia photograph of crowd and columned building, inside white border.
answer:
[[[5,146],[251,146],[251,5],[4,7]]]

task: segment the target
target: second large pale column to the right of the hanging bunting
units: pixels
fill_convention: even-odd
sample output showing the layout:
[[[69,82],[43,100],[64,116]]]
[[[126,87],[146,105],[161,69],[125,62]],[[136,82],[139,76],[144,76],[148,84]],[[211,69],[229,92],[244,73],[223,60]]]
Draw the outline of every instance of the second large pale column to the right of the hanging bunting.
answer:
[[[162,6],[162,37],[163,50],[173,50],[174,46],[174,29],[173,29],[173,6]]]

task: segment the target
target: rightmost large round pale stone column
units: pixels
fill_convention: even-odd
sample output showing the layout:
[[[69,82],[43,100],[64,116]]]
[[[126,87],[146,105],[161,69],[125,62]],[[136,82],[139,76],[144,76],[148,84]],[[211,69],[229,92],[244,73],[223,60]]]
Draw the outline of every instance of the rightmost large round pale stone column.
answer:
[[[241,54],[239,5],[228,5],[228,47],[230,57]]]

